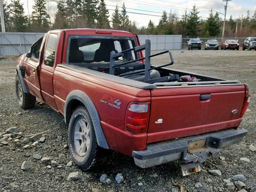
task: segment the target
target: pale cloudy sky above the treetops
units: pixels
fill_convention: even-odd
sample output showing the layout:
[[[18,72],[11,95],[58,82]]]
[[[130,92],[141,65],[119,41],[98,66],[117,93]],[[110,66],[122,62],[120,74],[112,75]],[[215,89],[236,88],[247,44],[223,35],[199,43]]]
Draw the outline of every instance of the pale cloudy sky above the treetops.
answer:
[[[10,0],[7,0],[10,1]],[[33,9],[34,0],[21,0],[24,4],[25,13],[31,14]],[[110,16],[116,6],[122,6],[125,3],[126,11],[128,12],[129,19],[136,21],[139,27],[147,26],[149,20],[157,25],[162,12],[165,10],[167,13],[175,13],[178,17],[182,17],[185,9],[191,11],[192,6],[195,4],[200,11],[201,19],[206,20],[211,9],[224,14],[224,4],[222,0],[105,0],[107,8],[109,9]],[[47,2],[50,8],[50,15],[54,18],[57,11],[57,4],[55,2]],[[119,8],[121,10],[121,8]],[[256,10],[256,0],[230,0],[228,1],[227,18],[232,15],[233,18],[246,15],[247,10],[250,11],[250,16]],[[139,13],[139,14],[136,14]],[[144,14],[144,15],[143,15]],[[220,17],[224,19],[224,15]]]

